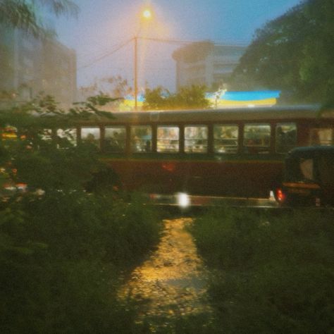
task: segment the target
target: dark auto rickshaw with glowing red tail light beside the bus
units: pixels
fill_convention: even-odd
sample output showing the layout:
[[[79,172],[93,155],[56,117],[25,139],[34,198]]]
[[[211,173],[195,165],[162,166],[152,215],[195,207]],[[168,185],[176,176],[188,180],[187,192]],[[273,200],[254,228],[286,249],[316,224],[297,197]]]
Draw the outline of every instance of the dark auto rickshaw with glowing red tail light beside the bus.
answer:
[[[276,199],[287,205],[334,205],[334,146],[292,149]]]

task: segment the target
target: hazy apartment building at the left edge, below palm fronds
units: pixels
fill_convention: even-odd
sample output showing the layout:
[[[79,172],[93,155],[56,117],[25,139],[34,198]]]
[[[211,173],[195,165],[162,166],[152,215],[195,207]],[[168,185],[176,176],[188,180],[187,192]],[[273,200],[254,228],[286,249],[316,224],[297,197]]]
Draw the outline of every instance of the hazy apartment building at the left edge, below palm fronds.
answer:
[[[40,92],[68,105],[75,101],[76,55],[55,39],[39,40],[0,27],[0,92],[27,101]]]

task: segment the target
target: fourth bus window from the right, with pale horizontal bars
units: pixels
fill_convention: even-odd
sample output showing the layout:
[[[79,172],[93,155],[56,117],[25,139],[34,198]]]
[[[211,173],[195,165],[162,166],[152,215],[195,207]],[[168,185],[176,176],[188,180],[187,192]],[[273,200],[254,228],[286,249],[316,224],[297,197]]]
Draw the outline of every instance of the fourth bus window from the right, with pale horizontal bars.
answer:
[[[237,153],[239,128],[237,125],[214,125],[214,151]]]

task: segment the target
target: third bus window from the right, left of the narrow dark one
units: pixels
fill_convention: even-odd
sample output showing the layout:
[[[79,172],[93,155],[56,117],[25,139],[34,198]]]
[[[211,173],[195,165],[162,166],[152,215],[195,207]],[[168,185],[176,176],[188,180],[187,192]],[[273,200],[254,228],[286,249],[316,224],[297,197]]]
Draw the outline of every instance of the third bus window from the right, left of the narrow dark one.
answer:
[[[269,124],[245,124],[244,149],[246,153],[269,153],[271,127]]]

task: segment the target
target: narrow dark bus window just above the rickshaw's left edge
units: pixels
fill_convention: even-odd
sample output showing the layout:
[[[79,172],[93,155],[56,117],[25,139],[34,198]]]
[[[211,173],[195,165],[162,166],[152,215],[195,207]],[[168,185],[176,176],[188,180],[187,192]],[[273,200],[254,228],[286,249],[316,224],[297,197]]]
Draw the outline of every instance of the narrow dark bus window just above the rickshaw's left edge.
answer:
[[[286,153],[297,144],[297,127],[295,123],[278,123],[276,125],[276,152]]]

